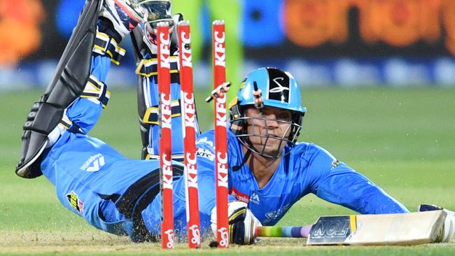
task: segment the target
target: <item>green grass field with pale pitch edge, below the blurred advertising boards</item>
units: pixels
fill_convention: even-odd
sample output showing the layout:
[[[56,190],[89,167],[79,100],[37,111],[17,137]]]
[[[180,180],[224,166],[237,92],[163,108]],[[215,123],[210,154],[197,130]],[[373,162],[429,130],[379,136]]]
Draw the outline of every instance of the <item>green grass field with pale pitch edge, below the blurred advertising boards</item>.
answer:
[[[308,112],[301,141],[311,141],[380,185],[411,211],[430,203],[455,209],[454,89],[302,90]],[[454,255],[455,243],[423,246],[307,247],[304,239],[262,239],[228,250],[161,250],[160,244],[131,243],[94,229],[60,206],[45,178],[18,178],[22,125],[42,91],[0,94],[0,254],[146,255]],[[202,130],[211,127],[211,106],[197,92]],[[139,158],[141,142],[136,94],[113,90],[108,108],[91,135],[127,157]],[[113,128],[115,127],[115,128]],[[305,225],[320,215],[349,214],[314,196],[301,199],[279,225]]]

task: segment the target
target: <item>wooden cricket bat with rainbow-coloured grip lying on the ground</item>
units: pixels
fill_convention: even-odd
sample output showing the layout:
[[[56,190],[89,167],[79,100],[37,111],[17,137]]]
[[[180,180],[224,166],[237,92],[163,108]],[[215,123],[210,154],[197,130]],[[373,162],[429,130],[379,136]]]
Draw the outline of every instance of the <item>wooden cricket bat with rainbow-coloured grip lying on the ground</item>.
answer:
[[[437,243],[444,234],[444,211],[322,216],[303,227],[258,227],[257,236],[306,237],[309,246],[410,246]]]

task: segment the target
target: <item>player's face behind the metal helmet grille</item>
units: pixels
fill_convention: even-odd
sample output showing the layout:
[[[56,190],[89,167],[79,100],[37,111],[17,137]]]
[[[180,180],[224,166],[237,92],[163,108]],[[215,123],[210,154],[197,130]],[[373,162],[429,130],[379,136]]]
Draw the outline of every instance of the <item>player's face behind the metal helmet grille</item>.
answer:
[[[255,107],[246,108],[246,132],[254,148],[267,155],[278,156],[286,145],[292,124],[292,112],[282,108],[265,106],[262,114]]]

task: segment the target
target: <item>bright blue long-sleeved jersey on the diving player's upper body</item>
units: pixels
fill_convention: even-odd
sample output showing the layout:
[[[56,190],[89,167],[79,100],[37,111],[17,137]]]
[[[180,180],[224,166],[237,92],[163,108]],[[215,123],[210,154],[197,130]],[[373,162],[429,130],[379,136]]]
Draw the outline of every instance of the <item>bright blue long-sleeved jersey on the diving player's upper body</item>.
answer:
[[[213,130],[199,136],[197,148],[200,213],[203,229],[207,231],[211,211],[216,206]],[[309,193],[362,214],[408,212],[371,180],[318,145],[297,143],[285,150],[290,150],[289,154],[282,157],[272,178],[260,188],[246,164],[232,171],[233,166],[241,164],[244,153],[241,143],[228,131],[229,201],[246,202],[262,225],[275,225],[295,202]],[[146,226],[153,232],[160,230],[160,204],[158,196],[143,212]],[[174,183],[174,215],[177,229],[183,232],[185,206],[185,183],[181,178]]]

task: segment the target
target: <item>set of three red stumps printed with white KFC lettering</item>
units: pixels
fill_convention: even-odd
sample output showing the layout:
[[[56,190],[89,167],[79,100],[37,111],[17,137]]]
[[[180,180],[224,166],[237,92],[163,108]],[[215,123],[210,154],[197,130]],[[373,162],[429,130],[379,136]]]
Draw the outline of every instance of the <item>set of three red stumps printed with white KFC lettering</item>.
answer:
[[[186,219],[188,246],[200,248],[200,213],[197,188],[196,111],[193,94],[193,63],[190,24],[181,21],[177,28],[179,38],[179,66],[181,83],[181,114],[183,117],[183,148],[186,172]],[[172,148],[171,148],[171,97],[170,97],[170,35],[167,22],[158,23],[158,91],[160,92],[160,186],[162,191],[162,248],[174,248],[174,213],[172,200]],[[212,32],[214,87],[225,83],[225,25],[222,20],[213,22]],[[215,99],[215,177],[217,241],[219,248],[229,247],[228,234],[228,135],[226,132],[226,94]]]

